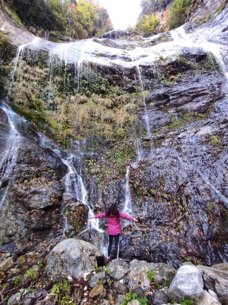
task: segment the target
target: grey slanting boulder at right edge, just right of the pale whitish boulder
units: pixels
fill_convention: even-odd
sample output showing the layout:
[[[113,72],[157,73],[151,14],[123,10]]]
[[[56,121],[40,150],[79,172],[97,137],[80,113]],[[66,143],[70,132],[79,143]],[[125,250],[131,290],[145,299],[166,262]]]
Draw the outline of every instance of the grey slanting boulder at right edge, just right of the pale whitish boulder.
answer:
[[[228,305],[228,272],[206,266],[197,268],[202,274],[204,286],[216,292],[222,304]]]

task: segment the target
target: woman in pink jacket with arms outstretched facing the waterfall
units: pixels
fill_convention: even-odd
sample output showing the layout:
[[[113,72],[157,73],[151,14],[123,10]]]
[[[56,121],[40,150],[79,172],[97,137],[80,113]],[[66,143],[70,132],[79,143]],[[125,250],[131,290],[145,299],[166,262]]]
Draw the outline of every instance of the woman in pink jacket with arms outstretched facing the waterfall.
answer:
[[[136,218],[127,216],[126,214],[119,212],[116,204],[112,204],[105,213],[98,214],[96,216],[91,216],[91,218],[108,218],[108,236],[109,236],[109,245],[108,245],[108,256],[107,259],[110,259],[110,253],[112,249],[113,237],[115,239],[115,257],[116,260],[119,260],[119,236],[121,232],[120,227],[120,218],[124,218],[130,221],[138,221]]]

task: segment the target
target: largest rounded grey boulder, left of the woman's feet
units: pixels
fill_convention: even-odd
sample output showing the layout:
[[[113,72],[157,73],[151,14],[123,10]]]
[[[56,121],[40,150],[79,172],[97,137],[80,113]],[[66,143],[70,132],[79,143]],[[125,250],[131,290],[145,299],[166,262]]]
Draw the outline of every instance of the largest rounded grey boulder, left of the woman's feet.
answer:
[[[45,270],[52,278],[67,278],[68,275],[81,278],[85,272],[98,267],[97,260],[103,257],[104,254],[89,242],[64,239],[51,250]]]

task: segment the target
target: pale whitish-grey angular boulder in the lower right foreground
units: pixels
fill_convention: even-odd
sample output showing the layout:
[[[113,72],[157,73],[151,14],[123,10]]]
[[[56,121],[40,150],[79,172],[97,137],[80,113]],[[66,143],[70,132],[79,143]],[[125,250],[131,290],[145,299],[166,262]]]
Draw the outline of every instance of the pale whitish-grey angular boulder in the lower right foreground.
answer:
[[[168,289],[170,300],[182,300],[183,297],[195,299],[203,294],[201,272],[194,266],[181,266]]]

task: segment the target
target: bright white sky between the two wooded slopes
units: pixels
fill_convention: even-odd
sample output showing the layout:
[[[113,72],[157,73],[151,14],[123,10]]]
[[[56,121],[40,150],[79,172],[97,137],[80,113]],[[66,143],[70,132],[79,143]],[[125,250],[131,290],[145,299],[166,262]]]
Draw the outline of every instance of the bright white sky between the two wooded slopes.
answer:
[[[109,12],[114,30],[125,30],[136,23],[141,12],[140,0],[99,0]]]

